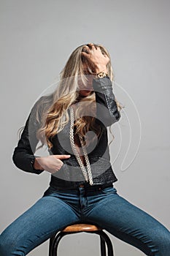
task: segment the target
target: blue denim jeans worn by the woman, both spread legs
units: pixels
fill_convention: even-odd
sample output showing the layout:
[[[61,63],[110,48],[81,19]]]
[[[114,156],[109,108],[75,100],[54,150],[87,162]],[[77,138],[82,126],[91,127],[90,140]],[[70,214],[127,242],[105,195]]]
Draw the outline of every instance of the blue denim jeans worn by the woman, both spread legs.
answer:
[[[145,255],[170,255],[169,230],[118,195],[115,187],[98,191],[48,187],[31,208],[1,233],[0,255],[27,255],[58,230],[79,222],[99,225]]]

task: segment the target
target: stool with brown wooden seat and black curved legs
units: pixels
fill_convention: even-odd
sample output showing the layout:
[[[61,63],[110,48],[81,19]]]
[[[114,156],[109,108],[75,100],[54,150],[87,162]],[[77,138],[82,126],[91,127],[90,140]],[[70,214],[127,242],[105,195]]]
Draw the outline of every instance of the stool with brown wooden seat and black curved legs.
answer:
[[[65,227],[63,230],[55,233],[55,235],[50,238],[49,256],[57,256],[58,244],[63,236],[80,232],[98,234],[100,236],[101,256],[106,256],[106,245],[108,256],[114,256],[112,242],[110,241],[109,236],[107,236],[107,234],[104,233],[101,227],[89,224],[70,225]]]

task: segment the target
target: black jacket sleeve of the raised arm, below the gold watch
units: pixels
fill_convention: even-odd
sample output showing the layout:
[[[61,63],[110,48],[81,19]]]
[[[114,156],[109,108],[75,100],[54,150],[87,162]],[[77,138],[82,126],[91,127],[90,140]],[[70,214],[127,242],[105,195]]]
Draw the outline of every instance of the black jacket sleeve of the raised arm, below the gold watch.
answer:
[[[117,109],[115,95],[112,91],[112,81],[109,76],[93,78],[93,89],[96,94],[97,121],[109,127],[120,119],[120,111]]]

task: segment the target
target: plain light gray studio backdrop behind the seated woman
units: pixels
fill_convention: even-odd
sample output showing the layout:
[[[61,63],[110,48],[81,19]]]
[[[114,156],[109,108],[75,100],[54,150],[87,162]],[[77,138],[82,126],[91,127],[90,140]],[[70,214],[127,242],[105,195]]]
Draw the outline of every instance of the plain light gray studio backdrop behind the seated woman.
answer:
[[[169,228],[170,2],[0,3],[1,231],[42,197],[50,181],[50,173],[26,173],[12,163],[18,128],[25,124],[37,97],[53,83],[72,50],[88,42],[101,43],[109,50],[114,91],[125,105],[119,124],[112,127],[112,160],[122,138],[113,166],[117,192]],[[132,145],[126,156],[129,141]],[[143,255],[109,236],[115,255]],[[64,239],[60,255],[98,255],[95,235],[82,233]],[[45,256],[47,252],[48,241],[29,255]]]

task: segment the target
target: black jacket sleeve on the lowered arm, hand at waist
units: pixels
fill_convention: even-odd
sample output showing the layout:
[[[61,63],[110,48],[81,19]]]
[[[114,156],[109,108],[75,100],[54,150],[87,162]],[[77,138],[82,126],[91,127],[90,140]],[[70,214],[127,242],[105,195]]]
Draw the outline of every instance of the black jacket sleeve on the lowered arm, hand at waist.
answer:
[[[14,149],[12,161],[20,170],[40,174],[44,170],[36,170],[33,166],[35,158],[38,157],[34,156],[34,152],[39,142],[36,138],[36,130],[39,128],[39,122],[36,121],[36,105],[37,102],[28,115],[18,145]]]

